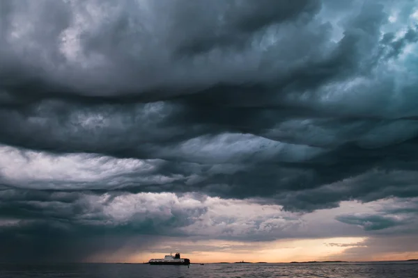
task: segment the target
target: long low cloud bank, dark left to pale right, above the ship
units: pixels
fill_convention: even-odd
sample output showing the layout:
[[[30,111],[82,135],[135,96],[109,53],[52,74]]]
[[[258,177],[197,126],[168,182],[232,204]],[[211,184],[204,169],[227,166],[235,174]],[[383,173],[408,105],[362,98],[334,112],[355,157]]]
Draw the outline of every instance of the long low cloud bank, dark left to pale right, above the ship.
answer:
[[[357,227],[315,218],[277,205],[195,194],[3,190],[0,236],[7,240],[0,244],[0,259],[60,262],[109,255],[121,260],[135,252],[159,250],[155,245],[167,238],[177,243],[233,241],[234,246],[241,242],[255,248],[254,243],[272,240],[364,236]]]

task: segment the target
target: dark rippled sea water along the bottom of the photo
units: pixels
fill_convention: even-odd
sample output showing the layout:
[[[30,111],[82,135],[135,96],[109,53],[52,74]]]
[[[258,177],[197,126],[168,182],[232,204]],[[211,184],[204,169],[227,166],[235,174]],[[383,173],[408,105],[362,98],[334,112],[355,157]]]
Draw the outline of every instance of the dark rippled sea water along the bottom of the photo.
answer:
[[[418,263],[268,263],[206,265],[143,265],[78,263],[56,265],[0,264],[0,277],[350,277],[418,278]]]

